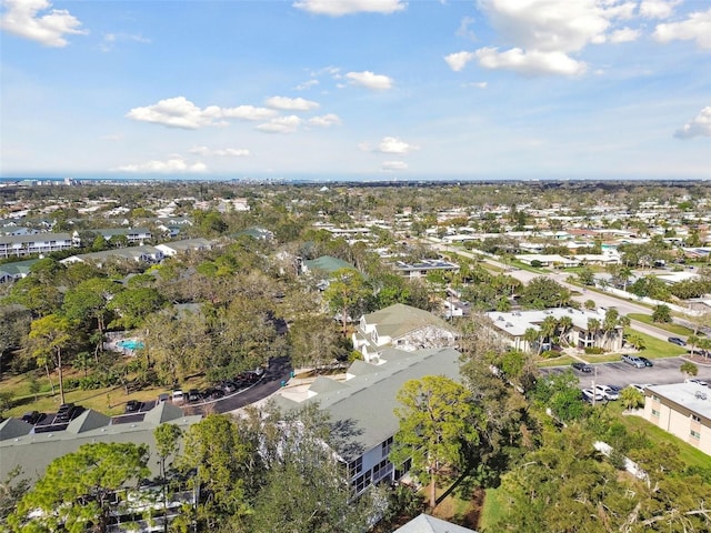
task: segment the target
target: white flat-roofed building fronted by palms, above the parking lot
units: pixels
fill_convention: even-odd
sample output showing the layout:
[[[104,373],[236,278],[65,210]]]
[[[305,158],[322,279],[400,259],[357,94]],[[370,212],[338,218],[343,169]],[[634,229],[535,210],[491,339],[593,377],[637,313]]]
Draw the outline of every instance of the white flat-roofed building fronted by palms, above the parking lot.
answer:
[[[491,319],[494,331],[503,342],[514,350],[532,351],[538,348],[548,350],[551,348],[551,339],[530,342],[525,339],[525,331],[533,329],[539,331],[545,319],[553,318],[557,322],[562,319],[570,319],[570,329],[565,332],[568,345],[575,348],[600,346],[608,351],[615,351],[622,348],[623,328],[618,325],[613,331],[603,332],[601,325],[607,311],[602,308],[597,311],[587,311],[573,308],[553,308],[543,311],[513,311],[499,312],[490,311],[487,316]],[[598,328],[592,328],[597,321]]]

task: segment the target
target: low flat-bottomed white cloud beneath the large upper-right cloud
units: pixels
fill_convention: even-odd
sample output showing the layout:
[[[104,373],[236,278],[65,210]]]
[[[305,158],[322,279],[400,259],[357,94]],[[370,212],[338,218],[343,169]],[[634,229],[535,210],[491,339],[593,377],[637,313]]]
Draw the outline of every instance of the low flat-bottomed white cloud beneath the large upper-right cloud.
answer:
[[[582,74],[587,66],[575,61],[563,52],[543,52],[540,50],[529,50],[512,48],[505,52],[499,52],[495,48],[480,48],[477,50],[479,64],[484,69],[513,70],[520,74]]]

